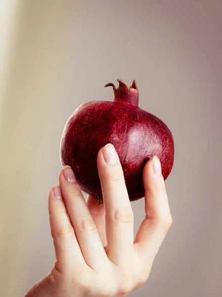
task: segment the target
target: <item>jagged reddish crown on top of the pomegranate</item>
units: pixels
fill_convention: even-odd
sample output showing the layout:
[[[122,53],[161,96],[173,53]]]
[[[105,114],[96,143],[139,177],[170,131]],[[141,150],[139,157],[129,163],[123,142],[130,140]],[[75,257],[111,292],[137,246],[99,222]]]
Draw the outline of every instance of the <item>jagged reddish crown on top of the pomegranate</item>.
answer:
[[[119,82],[118,89],[116,89],[115,85],[112,83],[105,85],[105,87],[113,87],[114,102],[118,102],[124,105],[130,105],[133,107],[138,107],[139,91],[135,80],[133,80],[132,86],[130,86],[130,88],[128,88],[127,84],[121,79],[118,79],[117,81]]]

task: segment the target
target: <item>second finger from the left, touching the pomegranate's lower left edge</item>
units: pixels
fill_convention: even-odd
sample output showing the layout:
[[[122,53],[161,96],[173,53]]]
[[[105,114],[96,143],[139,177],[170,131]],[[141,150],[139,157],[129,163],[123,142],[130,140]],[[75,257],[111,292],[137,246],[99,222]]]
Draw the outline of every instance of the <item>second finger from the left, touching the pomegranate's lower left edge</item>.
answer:
[[[98,270],[104,265],[107,255],[70,166],[65,166],[59,173],[59,184],[83,257],[89,267]]]

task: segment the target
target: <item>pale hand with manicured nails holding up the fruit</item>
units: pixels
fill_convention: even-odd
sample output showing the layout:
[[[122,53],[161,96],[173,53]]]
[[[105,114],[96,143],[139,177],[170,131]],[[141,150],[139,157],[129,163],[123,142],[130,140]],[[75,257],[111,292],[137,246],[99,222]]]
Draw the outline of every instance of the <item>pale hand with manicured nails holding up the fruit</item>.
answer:
[[[59,183],[48,194],[56,261],[25,297],[123,297],[149,278],[172,225],[160,161],[154,156],[143,170],[145,219],[135,239],[133,210],[113,145],[99,150],[97,167],[104,205],[91,196],[85,201],[71,167],[60,171]]]

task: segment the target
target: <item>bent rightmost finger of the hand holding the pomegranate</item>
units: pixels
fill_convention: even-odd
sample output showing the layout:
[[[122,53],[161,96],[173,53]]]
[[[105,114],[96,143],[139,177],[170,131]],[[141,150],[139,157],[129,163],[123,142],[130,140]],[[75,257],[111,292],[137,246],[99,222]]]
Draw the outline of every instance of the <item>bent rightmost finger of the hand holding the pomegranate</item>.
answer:
[[[172,217],[158,157],[149,160],[143,170],[145,213],[134,246],[143,262],[152,262],[171,224]]]

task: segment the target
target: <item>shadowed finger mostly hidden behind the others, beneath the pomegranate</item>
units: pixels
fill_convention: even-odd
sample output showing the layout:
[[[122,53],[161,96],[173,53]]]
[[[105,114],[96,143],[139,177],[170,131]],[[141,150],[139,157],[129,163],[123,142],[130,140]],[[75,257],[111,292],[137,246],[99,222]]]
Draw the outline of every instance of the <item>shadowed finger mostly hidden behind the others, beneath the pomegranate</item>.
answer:
[[[96,197],[92,197],[90,195],[87,196],[87,206],[89,208],[89,211],[95,221],[95,224],[97,226],[99,236],[102,241],[103,247],[106,247],[107,241],[106,241],[106,228],[105,228],[105,209],[104,205],[98,205],[98,200]]]

